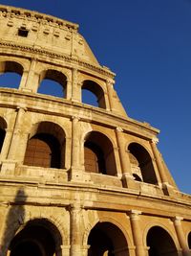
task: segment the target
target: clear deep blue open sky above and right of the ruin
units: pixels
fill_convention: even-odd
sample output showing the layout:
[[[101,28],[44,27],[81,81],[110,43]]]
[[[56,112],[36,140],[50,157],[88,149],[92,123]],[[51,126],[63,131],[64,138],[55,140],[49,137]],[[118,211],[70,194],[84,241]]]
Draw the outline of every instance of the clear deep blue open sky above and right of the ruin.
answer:
[[[1,0],[79,24],[101,65],[117,73],[130,117],[160,129],[159,151],[191,194],[191,0]]]

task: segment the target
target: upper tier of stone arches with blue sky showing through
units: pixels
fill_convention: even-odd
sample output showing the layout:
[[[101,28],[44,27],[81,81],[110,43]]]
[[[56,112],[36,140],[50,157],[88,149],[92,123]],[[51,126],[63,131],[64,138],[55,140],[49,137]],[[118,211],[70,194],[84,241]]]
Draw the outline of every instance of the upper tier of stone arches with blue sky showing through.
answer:
[[[53,65],[37,68],[32,63],[29,67],[29,63],[18,62],[16,58],[12,61],[0,60],[0,87],[32,91],[67,100],[74,99],[103,109],[111,108],[106,81],[98,82],[94,78],[78,81],[72,76],[69,70],[57,67],[54,69]]]

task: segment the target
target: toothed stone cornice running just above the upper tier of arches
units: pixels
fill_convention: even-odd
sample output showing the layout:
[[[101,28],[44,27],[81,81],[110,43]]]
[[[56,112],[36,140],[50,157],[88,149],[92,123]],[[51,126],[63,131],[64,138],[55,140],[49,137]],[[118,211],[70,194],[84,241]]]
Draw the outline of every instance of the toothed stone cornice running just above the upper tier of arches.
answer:
[[[29,46],[29,45],[21,45],[21,44],[16,44],[16,43],[11,43],[11,42],[6,42],[6,41],[1,41],[0,42],[0,47],[10,47],[12,50],[15,51],[16,50],[20,50],[22,52],[27,52],[27,53],[32,53],[32,54],[36,54],[36,55],[44,55],[46,57],[49,58],[56,58],[56,59],[64,59],[64,61],[72,63],[74,65],[78,65],[80,67],[84,67],[84,68],[88,68],[89,70],[92,70],[94,72],[97,72],[98,74],[102,74],[108,78],[114,79],[115,77],[115,73],[109,71],[107,68],[101,68],[100,66],[96,66],[93,65],[91,63],[82,61],[78,58],[73,58],[71,56],[67,56],[67,55],[61,55],[55,52],[51,52],[48,50],[44,50],[44,49],[40,49],[37,46]],[[15,52],[14,52],[15,54]]]

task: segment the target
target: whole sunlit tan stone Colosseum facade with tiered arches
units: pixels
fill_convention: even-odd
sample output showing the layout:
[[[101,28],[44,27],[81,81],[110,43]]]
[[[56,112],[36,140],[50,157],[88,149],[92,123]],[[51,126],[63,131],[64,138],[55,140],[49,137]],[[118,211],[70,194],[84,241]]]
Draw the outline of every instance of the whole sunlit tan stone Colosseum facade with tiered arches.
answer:
[[[20,75],[0,88],[1,256],[191,255],[159,129],[126,114],[78,25],[0,6],[0,26],[0,72]]]

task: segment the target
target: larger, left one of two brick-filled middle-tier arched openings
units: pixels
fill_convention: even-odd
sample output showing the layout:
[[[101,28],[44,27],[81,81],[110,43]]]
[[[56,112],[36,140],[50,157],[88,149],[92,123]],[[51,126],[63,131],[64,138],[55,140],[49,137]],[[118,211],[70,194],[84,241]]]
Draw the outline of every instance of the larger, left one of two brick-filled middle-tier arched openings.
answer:
[[[51,122],[42,122],[28,141],[24,165],[64,168],[65,133]]]

